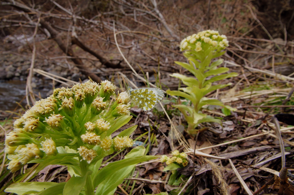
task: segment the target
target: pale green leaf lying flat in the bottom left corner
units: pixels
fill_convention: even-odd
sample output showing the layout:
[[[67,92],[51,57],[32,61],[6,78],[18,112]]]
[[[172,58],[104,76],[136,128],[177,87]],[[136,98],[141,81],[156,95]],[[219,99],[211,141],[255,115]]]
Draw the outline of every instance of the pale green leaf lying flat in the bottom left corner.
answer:
[[[65,182],[63,182],[65,185]],[[56,186],[62,183],[55,183],[55,182],[22,182],[10,185],[6,188],[5,192],[15,193],[18,195],[23,194],[36,194],[44,189],[50,188],[52,186]]]

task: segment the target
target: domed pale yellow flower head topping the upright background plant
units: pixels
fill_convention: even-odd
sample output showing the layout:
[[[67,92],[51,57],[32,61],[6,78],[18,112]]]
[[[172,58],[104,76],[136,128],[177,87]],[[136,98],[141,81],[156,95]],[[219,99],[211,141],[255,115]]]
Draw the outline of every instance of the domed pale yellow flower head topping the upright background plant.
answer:
[[[228,46],[229,41],[225,35],[220,35],[218,31],[206,30],[184,38],[180,49],[205,52],[207,49],[220,51]]]

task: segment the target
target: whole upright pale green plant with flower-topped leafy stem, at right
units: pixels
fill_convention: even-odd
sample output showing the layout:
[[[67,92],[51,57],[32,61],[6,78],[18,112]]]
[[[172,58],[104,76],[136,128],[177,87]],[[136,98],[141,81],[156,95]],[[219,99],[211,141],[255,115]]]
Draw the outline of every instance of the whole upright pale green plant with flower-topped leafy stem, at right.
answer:
[[[188,123],[186,131],[189,134],[197,133],[196,127],[202,122],[221,123],[219,119],[203,114],[201,112],[203,106],[219,105],[229,110],[235,110],[228,105],[224,105],[219,100],[205,97],[205,95],[211,91],[232,84],[213,85],[213,82],[238,76],[238,73],[226,73],[229,71],[229,68],[218,68],[218,65],[223,63],[223,59],[212,61],[213,58],[217,58],[225,53],[225,51],[222,50],[229,46],[228,43],[225,35],[220,35],[218,31],[212,30],[201,31],[181,41],[181,51],[185,51],[184,56],[189,63],[178,61],[175,63],[186,68],[193,74],[193,77],[173,73],[171,76],[179,78],[187,87],[179,88],[181,91],[167,90],[166,93],[190,100],[191,105],[174,105],[174,107],[177,107],[183,113]]]

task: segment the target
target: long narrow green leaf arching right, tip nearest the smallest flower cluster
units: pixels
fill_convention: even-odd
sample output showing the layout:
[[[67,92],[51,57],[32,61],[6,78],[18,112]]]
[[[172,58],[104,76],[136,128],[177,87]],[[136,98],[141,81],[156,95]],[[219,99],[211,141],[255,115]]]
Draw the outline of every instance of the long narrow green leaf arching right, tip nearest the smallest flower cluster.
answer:
[[[103,180],[107,179],[109,174],[113,174],[116,171],[123,169],[124,167],[145,162],[148,160],[156,159],[156,158],[157,157],[155,156],[139,156],[139,157],[132,157],[128,159],[119,160],[116,162],[111,162],[106,167],[103,167],[102,169],[100,169],[96,175],[93,175],[93,177],[95,178],[93,182],[93,186],[94,187],[98,186]]]

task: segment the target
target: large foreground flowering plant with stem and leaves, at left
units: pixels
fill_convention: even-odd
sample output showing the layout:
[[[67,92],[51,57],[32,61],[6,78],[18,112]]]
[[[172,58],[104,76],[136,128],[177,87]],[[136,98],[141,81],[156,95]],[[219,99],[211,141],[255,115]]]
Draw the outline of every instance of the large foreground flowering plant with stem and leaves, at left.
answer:
[[[5,152],[10,160],[7,168],[16,172],[27,163],[39,163],[36,170],[39,172],[50,164],[66,165],[71,178],[62,183],[17,183],[5,191],[114,194],[137,163],[156,158],[145,156],[145,148],[136,147],[125,159],[100,169],[103,157],[133,146],[129,135],[137,127],[134,125],[111,137],[132,118],[127,92],[119,93],[113,104],[108,103],[115,88],[108,80],[100,84],[89,80],[72,88],[57,88],[53,95],[36,102],[16,120],[14,130],[5,138]]]

